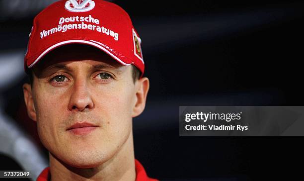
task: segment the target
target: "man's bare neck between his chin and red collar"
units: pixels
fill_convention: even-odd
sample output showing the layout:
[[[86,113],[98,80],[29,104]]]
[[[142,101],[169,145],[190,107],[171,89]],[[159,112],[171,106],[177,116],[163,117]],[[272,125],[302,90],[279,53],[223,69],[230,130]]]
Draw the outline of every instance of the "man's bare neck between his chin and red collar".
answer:
[[[50,157],[51,181],[135,181],[133,134],[120,150],[103,164],[88,169],[66,165],[53,154]]]

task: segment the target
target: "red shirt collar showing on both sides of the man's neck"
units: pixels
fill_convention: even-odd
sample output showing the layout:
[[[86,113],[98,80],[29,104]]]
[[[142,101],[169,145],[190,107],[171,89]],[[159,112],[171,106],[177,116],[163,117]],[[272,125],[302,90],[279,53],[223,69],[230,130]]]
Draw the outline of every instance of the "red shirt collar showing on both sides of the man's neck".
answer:
[[[135,159],[135,170],[136,170],[135,181],[158,181],[156,179],[149,178],[142,164],[136,159]],[[37,181],[50,181],[50,180],[51,180],[50,167],[47,167],[38,176]]]

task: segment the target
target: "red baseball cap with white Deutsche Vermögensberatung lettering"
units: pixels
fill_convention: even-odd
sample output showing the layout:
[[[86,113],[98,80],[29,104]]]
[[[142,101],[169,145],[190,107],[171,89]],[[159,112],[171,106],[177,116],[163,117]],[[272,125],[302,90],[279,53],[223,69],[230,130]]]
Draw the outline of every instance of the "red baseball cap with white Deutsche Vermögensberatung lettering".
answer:
[[[34,18],[24,69],[28,72],[57,47],[86,44],[125,66],[134,64],[143,75],[141,42],[128,13],[120,6],[104,0],[59,0]]]

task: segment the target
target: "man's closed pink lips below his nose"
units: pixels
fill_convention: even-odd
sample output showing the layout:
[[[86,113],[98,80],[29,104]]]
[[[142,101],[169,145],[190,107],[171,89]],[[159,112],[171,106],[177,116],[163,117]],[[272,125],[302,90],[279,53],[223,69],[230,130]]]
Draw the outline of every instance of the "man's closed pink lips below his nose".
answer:
[[[85,134],[92,132],[97,127],[99,127],[99,126],[88,123],[88,122],[81,122],[81,123],[77,122],[77,123],[73,124],[71,127],[69,127],[67,129],[67,131],[69,131],[75,135],[85,135]]]

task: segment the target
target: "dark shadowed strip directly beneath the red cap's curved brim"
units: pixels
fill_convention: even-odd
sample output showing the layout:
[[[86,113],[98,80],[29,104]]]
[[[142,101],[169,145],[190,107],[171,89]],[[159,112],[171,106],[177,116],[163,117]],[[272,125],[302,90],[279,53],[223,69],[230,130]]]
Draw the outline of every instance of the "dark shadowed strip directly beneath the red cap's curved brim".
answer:
[[[76,63],[89,60],[92,66],[104,65],[105,67],[123,68],[125,66],[118,63],[103,51],[88,45],[72,44],[59,47],[49,52],[37,65],[33,67],[34,72],[43,72],[55,65],[65,65],[71,62]]]

